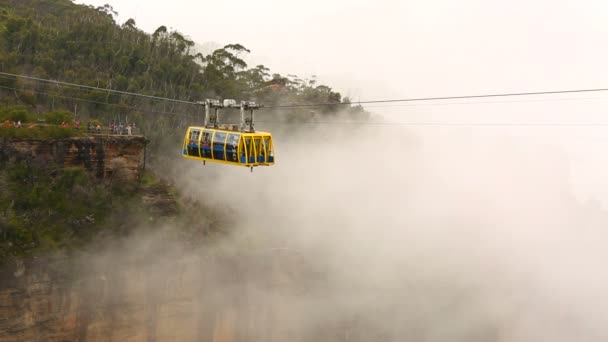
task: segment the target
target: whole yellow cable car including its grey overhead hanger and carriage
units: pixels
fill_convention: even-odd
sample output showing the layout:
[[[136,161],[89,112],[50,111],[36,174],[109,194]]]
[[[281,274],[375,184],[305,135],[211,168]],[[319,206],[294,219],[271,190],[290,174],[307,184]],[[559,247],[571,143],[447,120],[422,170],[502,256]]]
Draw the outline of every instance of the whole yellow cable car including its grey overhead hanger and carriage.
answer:
[[[220,125],[219,108],[240,108],[241,124]],[[188,159],[240,165],[251,168],[274,164],[274,145],[272,134],[256,132],[253,128],[253,112],[259,108],[253,102],[234,100],[207,100],[205,102],[205,125],[188,127],[184,137],[182,156]],[[215,109],[210,115],[210,109]],[[250,111],[250,118],[245,118]]]

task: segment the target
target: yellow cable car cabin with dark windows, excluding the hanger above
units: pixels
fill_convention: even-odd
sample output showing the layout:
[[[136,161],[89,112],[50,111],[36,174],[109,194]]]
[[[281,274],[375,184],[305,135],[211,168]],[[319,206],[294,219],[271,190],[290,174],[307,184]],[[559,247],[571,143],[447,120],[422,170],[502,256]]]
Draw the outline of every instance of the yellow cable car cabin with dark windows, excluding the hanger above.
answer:
[[[272,135],[206,127],[189,127],[182,156],[189,159],[247,167],[274,164]]]

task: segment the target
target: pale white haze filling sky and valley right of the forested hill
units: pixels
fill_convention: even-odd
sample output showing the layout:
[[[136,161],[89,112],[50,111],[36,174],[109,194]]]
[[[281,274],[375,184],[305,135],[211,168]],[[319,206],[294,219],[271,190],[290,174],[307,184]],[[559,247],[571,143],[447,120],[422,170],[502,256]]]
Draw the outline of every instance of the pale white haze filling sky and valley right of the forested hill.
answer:
[[[354,100],[608,86],[601,1],[112,5],[145,31],[238,42]],[[359,340],[605,340],[606,95],[369,108],[389,124],[258,125],[275,133],[277,165],[253,175],[166,170],[183,193],[234,211],[224,244],[298,251],[324,274],[323,290],[269,300],[276,325],[297,322],[302,341],[345,321],[369,334]],[[167,260],[190,251],[176,253]]]

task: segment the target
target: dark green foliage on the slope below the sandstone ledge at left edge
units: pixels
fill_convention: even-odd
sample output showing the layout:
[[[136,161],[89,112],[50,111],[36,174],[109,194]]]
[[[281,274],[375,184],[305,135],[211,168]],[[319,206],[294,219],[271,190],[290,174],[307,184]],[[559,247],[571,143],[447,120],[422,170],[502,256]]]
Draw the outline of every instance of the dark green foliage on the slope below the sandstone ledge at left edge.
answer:
[[[131,201],[82,168],[42,169],[26,162],[0,169],[0,188],[0,263],[77,248]]]

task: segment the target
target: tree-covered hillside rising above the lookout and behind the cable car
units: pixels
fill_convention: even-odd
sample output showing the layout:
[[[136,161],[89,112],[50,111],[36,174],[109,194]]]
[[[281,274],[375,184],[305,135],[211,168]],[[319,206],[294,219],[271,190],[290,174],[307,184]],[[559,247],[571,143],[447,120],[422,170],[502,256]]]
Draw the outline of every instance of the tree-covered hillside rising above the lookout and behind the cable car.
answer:
[[[110,5],[94,8],[70,0],[0,0],[0,71],[188,101],[222,97],[256,100],[267,106],[348,101],[314,80],[247,65],[242,56],[249,50],[238,43],[202,55],[193,50],[195,42],[185,33],[170,31],[162,23],[155,32],[146,33],[133,19],[119,25],[116,15]],[[190,115],[200,110],[7,76],[0,76],[0,87],[2,101],[10,105],[3,108],[2,119],[23,118],[24,110],[34,115],[61,110],[77,113],[82,120],[128,117],[140,125],[165,129],[180,124],[167,113]],[[14,105],[21,107],[16,110]],[[347,107],[359,118],[365,115],[360,107]],[[334,106],[315,109],[321,115],[337,110]],[[302,113],[308,110],[272,115],[291,115],[293,120]]]

